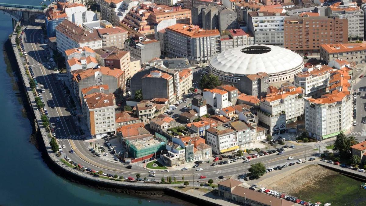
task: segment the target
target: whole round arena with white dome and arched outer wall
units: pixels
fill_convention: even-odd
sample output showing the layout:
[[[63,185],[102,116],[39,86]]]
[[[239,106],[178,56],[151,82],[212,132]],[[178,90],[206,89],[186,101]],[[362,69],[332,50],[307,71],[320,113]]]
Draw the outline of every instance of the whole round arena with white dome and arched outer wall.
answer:
[[[240,77],[267,73],[269,84],[292,82],[304,68],[299,54],[274,45],[246,45],[228,49],[209,60],[210,72],[221,81],[238,83]]]

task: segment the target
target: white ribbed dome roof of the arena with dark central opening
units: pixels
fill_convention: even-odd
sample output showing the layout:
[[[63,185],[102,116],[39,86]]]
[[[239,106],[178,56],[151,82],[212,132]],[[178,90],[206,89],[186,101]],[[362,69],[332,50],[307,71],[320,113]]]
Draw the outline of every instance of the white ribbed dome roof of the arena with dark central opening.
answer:
[[[210,59],[209,65],[232,74],[272,74],[294,69],[302,63],[302,56],[289,49],[255,44],[221,52]]]

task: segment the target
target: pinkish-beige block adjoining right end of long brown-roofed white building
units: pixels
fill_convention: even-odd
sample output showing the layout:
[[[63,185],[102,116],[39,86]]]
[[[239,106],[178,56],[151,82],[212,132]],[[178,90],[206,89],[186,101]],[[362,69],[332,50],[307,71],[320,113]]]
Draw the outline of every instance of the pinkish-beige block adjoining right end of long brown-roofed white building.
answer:
[[[116,26],[97,29],[97,32],[102,38],[102,47],[117,47],[123,49],[123,43],[128,38],[127,31]]]

